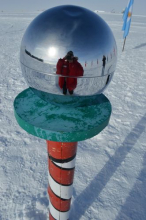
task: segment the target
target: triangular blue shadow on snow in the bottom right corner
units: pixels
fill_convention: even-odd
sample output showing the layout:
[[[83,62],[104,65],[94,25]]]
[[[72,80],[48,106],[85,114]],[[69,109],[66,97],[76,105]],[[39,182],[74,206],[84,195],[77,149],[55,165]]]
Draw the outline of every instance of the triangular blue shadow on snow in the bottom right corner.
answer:
[[[126,219],[146,219],[146,153],[143,158],[143,169],[116,218],[116,220]]]

